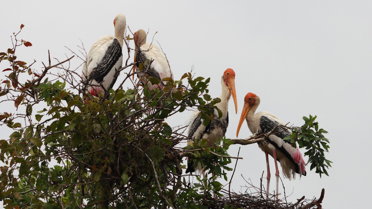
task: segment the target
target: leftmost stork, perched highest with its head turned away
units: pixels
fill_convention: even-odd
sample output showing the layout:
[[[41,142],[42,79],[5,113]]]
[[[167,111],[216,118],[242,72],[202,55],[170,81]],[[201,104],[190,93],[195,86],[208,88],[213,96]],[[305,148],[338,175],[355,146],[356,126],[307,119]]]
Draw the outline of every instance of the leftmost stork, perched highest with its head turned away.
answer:
[[[98,96],[115,83],[115,71],[123,64],[122,48],[126,27],[125,16],[116,15],[114,19],[115,36],[106,35],[93,43],[83,65],[83,83],[86,93]],[[103,88],[104,89],[103,89]]]

